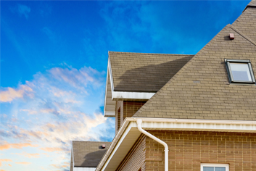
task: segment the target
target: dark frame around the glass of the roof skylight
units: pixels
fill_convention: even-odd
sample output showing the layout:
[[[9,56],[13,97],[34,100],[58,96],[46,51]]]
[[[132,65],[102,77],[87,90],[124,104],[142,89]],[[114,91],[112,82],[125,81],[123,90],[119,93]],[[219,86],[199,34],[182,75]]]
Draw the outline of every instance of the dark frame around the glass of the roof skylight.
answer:
[[[250,62],[250,60],[241,60],[241,59],[225,59],[225,63],[226,63],[226,68],[228,71],[228,78],[230,83],[246,83],[246,84],[255,84],[255,75],[254,72],[252,70],[252,64]],[[249,68],[249,73],[250,76],[252,78],[251,81],[245,81],[245,80],[234,80],[232,71],[231,71],[231,65],[230,63],[244,63],[244,64],[248,64],[248,68]]]

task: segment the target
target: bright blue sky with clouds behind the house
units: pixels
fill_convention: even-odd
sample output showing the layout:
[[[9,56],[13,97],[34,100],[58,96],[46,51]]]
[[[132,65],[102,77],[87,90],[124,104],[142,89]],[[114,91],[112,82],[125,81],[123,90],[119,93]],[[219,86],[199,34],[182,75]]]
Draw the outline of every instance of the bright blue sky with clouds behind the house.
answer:
[[[108,51],[196,54],[249,1],[1,1],[0,170],[69,170],[112,141]]]

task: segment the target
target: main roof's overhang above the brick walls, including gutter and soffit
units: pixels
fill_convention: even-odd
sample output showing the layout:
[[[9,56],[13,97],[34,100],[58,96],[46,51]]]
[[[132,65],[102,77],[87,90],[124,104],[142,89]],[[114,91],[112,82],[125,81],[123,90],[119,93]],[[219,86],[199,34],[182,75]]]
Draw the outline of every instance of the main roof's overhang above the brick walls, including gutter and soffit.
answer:
[[[256,133],[256,121],[235,120],[183,120],[167,118],[139,118],[129,117],[115,135],[110,148],[99,162],[96,171],[116,170],[120,162],[128,154],[133,144],[141,135],[136,120],[141,119],[141,127],[144,130],[194,130],[194,131],[218,131]]]

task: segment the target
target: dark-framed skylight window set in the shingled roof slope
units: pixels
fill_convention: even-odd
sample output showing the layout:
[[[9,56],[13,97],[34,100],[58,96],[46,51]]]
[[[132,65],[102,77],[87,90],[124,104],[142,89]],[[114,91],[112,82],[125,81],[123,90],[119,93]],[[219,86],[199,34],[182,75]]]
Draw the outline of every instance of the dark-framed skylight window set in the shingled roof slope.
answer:
[[[231,83],[255,83],[252,64],[249,60],[225,59]]]

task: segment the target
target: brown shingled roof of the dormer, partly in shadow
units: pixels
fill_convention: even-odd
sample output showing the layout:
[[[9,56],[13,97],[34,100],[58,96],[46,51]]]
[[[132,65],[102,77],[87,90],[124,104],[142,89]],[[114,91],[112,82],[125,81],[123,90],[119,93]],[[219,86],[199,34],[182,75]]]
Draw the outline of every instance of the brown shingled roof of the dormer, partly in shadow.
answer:
[[[114,91],[157,92],[194,55],[109,51]]]

